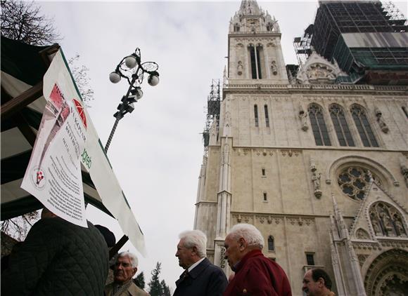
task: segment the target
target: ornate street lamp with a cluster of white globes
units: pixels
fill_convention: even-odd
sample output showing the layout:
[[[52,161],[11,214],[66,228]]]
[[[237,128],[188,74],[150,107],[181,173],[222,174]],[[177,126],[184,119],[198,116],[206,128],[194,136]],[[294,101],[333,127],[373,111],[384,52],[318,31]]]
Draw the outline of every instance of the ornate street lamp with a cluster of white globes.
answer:
[[[122,58],[120,63],[116,66],[114,72],[109,74],[109,80],[112,83],[118,83],[122,78],[127,79],[129,88],[126,95],[122,97],[120,104],[117,106],[117,112],[113,114],[115,117],[115,124],[106,142],[105,152],[108,152],[110,142],[115,133],[117,123],[127,113],[132,113],[134,110],[134,103],[141,99],[143,91],[141,91],[141,83],[143,82],[145,74],[148,74],[147,82],[151,86],[157,86],[159,83],[159,74],[157,69],[159,66],[155,62],[141,62],[140,49],[136,48],[134,53]]]

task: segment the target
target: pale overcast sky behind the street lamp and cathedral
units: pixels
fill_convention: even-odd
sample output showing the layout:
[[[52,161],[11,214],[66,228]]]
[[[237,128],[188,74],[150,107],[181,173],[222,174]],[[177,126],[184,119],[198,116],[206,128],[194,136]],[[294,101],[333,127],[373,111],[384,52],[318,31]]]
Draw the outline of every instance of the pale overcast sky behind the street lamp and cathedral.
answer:
[[[108,74],[136,47],[142,62],[159,65],[160,83],[144,82],[144,97],[120,121],[108,156],[144,231],[148,257],[130,243],[122,250],[139,257],[146,285],[162,262],[161,278],[174,290],[182,272],[174,257],[178,234],[193,228],[207,96],[212,79],[222,79],[229,20],[241,1],[36,2],[55,20],[65,57],[78,53],[79,64],[89,67],[95,99],[88,111],[103,143],[128,88],[126,81],[110,83]],[[406,1],[395,3],[407,15]],[[293,38],[314,21],[317,1],[258,4],[279,21],[286,64],[297,64]],[[122,237],[108,215],[89,207],[87,216]]]

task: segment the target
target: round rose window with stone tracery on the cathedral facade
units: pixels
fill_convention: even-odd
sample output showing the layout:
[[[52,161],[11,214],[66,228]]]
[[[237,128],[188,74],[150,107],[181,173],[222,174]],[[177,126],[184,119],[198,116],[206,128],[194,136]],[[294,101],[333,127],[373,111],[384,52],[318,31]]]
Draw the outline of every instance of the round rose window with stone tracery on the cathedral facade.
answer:
[[[357,166],[345,168],[338,175],[338,185],[341,190],[355,200],[364,199],[366,194],[366,187],[370,182],[370,175],[381,186],[381,181],[376,175],[369,172],[365,168]]]

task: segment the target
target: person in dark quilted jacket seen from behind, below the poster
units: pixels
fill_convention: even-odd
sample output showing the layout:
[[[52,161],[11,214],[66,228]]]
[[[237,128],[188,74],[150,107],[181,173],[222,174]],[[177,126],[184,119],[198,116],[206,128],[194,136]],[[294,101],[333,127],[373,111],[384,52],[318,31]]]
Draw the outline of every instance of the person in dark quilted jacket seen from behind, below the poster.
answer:
[[[1,295],[101,296],[107,275],[108,246],[98,229],[44,209],[1,274]]]

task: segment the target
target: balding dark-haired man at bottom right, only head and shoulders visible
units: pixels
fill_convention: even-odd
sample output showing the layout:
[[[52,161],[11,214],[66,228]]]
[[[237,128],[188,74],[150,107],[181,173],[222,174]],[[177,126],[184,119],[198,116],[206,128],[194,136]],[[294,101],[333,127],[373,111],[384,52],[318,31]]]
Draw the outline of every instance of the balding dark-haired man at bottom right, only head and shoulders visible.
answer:
[[[302,290],[307,296],[335,296],[331,292],[329,274],[319,268],[306,271],[305,276],[303,276]]]

